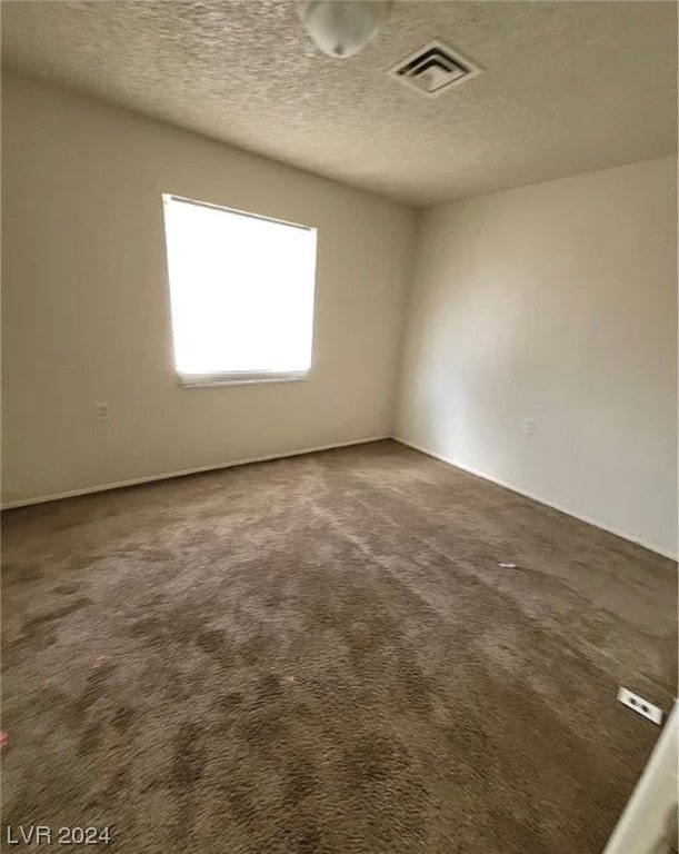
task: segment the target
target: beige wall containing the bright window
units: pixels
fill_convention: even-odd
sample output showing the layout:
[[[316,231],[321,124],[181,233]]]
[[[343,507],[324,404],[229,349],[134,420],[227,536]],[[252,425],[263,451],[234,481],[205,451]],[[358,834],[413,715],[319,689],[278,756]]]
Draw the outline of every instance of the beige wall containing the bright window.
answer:
[[[411,210],[14,75],[2,93],[4,503],[391,431]],[[310,379],[177,386],[162,192],[318,228]]]

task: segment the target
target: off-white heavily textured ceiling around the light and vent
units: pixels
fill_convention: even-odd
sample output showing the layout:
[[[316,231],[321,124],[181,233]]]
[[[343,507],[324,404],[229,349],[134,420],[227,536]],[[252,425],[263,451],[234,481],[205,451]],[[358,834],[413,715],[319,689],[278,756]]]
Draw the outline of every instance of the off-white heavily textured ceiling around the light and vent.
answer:
[[[294,2],[2,2],[2,58],[417,205],[676,150],[672,2],[395,2],[332,60]],[[387,71],[433,38],[483,67],[427,99]]]

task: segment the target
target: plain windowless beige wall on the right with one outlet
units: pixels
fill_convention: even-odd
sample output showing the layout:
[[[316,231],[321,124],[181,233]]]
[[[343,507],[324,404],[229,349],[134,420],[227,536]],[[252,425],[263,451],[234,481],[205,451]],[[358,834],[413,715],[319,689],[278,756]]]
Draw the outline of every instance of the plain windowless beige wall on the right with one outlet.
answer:
[[[427,211],[397,434],[676,554],[676,215],[673,158]]]

